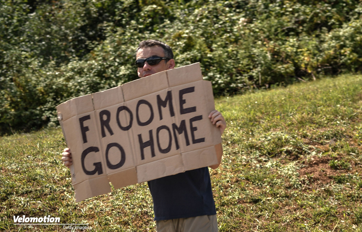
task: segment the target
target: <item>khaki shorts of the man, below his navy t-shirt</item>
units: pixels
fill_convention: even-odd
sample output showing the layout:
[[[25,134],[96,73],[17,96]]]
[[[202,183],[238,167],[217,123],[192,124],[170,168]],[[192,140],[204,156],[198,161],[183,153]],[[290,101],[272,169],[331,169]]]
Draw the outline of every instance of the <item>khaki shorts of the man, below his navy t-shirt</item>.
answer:
[[[156,221],[157,232],[218,232],[216,215]]]

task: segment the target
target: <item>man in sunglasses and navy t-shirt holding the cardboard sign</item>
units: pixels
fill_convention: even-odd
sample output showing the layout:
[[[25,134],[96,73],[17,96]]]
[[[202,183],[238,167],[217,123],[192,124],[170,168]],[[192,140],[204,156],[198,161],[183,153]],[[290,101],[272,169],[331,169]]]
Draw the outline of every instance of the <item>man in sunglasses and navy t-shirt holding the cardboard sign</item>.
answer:
[[[143,78],[173,69],[175,61],[171,47],[158,40],[139,43],[136,50],[137,73]],[[221,134],[226,128],[219,111],[211,111],[209,118]],[[64,165],[72,165],[69,148],[62,153]],[[222,148],[218,150],[221,162]],[[153,199],[157,232],[216,232],[218,224],[208,167],[185,171],[176,175],[148,181]]]

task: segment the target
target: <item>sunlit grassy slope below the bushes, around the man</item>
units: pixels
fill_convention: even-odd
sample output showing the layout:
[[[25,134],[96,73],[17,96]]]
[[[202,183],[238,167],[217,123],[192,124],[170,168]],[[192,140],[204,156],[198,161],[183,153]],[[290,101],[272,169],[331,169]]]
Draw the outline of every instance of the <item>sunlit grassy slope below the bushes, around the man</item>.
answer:
[[[210,170],[219,231],[362,231],[362,76],[215,100],[227,120]],[[76,203],[60,128],[0,138],[0,231],[13,216],[89,223],[86,231],[155,231],[147,183]],[[77,231],[77,230],[76,230]]]

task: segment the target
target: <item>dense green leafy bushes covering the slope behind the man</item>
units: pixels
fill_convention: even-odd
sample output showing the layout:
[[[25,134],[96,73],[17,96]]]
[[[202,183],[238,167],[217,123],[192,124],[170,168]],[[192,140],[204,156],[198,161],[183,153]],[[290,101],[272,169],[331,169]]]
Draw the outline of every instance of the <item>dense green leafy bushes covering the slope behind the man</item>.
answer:
[[[54,125],[55,106],[137,78],[138,42],[200,62],[215,95],[362,67],[358,0],[0,0],[0,133]]]

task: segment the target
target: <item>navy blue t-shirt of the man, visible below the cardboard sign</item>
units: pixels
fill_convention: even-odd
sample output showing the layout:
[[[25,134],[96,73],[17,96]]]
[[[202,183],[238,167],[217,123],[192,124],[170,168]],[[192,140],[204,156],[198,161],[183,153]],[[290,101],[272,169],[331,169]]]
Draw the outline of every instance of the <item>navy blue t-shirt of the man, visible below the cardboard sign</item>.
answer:
[[[207,167],[148,181],[148,187],[155,221],[216,214]]]

